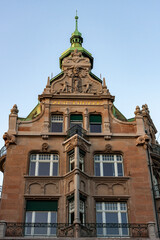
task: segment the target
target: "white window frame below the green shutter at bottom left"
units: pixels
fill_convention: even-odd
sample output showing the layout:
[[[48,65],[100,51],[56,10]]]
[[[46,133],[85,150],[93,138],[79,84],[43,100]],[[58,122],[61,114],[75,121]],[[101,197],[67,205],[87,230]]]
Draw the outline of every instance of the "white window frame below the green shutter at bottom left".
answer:
[[[51,223],[51,213],[55,212],[56,213],[56,223],[57,223],[57,211],[27,211],[27,212],[31,212],[32,213],[31,224],[34,224],[34,223],[36,224],[36,222],[35,222],[36,212],[43,212],[43,213],[47,213],[48,214],[48,216],[47,216],[47,224]],[[27,223],[27,221],[26,221],[26,223]],[[31,233],[30,234],[27,234],[27,228],[31,228]],[[44,235],[56,236],[56,234],[51,234],[51,227],[49,227],[49,226],[47,226],[47,233],[46,234],[36,234],[34,232],[35,232],[35,226],[31,226],[31,227],[27,226],[27,227],[25,227],[25,236],[44,236]]]

